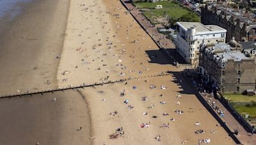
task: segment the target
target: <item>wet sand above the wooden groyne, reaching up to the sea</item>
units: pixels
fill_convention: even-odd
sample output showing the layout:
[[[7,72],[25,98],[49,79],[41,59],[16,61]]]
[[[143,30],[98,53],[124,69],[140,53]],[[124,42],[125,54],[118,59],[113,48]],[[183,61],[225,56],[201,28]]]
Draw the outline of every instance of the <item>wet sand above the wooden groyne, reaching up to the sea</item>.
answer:
[[[56,56],[63,46],[68,6],[68,0],[22,3],[18,17],[1,20],[0,94],[58,86]]]

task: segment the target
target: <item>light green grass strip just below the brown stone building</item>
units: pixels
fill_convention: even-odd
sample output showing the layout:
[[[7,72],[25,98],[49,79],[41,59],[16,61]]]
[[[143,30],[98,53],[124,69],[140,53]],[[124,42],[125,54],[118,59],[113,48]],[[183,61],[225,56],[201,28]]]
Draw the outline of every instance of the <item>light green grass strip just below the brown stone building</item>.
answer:
[[[231,99],[231,102],[256,102],[256,96],[248,96],[248,95],[241,95],[241,94],[224,94],[223,97]]]

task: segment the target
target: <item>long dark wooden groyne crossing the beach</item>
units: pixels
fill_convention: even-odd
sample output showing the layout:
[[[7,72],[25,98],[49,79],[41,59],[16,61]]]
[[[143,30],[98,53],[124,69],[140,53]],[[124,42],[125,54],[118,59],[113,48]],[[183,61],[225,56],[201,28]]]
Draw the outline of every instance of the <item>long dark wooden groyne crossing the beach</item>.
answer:
[[[141,78],[151,78],[151,77],[157,77],[157,76],[168,76],[170,75],[169,73],[166,72],[162,72],[161,74],[152,74],[152,75],[147,75],[147,76],[138,76],[135,78],[125,78],[125,79],[116,79],[116,80],[112,80],[112,81],[103,81],[103,82],[97,82],[97,83],[90,83],[90,84],[86,84],[83,83],[81,85],[69,85],[69,86],[65,86],[65,87],[58,87],[58,88],[50,88],[47,90],[38,90],[38,91],[31,91],[31,92],[24,92],[24,93],[11,93],[8,95],[1,95],[0,99],[3,98],[11,98],[11,97],[22,97],[22,96],[28,96],[28,95],[36,95],[36,94],[42,94],[44,95],[44,93],[54,93],[54,92],[58,92],[58,91],[65,91],[65,90],[75,90],[78,88],[86,88],[86,87],[95,87],[95,86],[103,86],[103,85],[107,85],[107,84],[113,84],[113,83],[123,83],[125,81],[130,81],[132,79],[141,79]]]

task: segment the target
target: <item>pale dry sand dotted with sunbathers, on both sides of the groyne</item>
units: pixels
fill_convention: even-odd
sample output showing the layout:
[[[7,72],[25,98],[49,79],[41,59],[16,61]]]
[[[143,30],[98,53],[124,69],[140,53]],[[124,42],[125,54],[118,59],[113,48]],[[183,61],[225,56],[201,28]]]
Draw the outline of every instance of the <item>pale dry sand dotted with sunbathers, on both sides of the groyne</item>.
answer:
[[[179,71],[168,64],[163,53],[159,52],[155,43],[127,14],[120,1],[72,1],[66,34],[58,69],[60,86],[99,82],[107,76],[107,80],[113,80],[159,74],[167,70]],[[111,48],[109,42],[113,43]],[[150,60],[148,53],[157,54],[157,58]],[[68,73],[63,75],[63,72]],[[124,76],[120,75],[121,72]],[[105,85],[82,91],[91,110],[93,143],[156,144],[154,136],[160,134],[163,138],[160,144],[181,144],[183,140],[188,144],[197,144],[198,139],[211,139],[213,144],[234,144],[223,128],[215,126],[217,121],[195,95],[187,94],[193,92],[179,88],[179,80],[172,82],[175,77],[179,75],[147,78],[148,83],[142,79],[129,81],[128,85]],[[149,90],[152,83],[157,88]],[[167,86],[167,89],[159,89],[160,85]],[[132,90],[132,86],[138,89]],[[182,87],[189,88],[186,85]],[[119,97],[124,89],[127,95]],[[179,91],[184,93],[180,100],[175,97]],[[161,93],[164,93],[163,98],[159,97]],[[143,96],[150,100],[142,102]],[[134,109],[128,109],[124,104],[125,99],[131,101]],[[159,101],[168,104],[161,105]],[[175,105],[176,101],[180,101],[181,105]],[[147,109],[153,103],[156,107]],[[182,109],[185,113],[177,115],[174,113],[176,109]],[[118,115],[109,115],[113,111],[118,111]],[[145,111],[148,112],[147,116],[143,116]],[[170,116],[163,116],[164,112]],[[151,118],[152,115],[159,118]],[[171,118],[176,121],[170,121]],[[150,128],[140,128],[141,123],[148,121],[151,121]],[[202,123],[202,127],[196,127],[196,121]],[[159,127],[168,122],[170,128]],[[124,128],[124,137],[109,139],[108,135],[118,127]],[[205,130],[205,134],[195,134],[196,129]],[[210,130],[215,133],[210,133]]]

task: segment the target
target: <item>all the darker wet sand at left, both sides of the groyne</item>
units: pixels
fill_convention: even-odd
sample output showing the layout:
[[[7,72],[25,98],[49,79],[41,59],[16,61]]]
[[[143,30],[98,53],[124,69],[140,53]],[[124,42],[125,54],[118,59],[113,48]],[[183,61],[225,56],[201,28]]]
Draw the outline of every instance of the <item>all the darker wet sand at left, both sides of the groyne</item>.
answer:
[[[69,1],[19,6],[19,16],[0,22],[0,95],[58,87],[56,56],[63,48]],[[91,144],[89,109],[79,92],[0,99],[0,104],[0,144]]]

